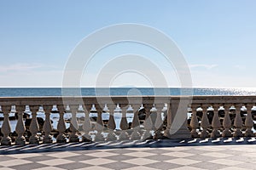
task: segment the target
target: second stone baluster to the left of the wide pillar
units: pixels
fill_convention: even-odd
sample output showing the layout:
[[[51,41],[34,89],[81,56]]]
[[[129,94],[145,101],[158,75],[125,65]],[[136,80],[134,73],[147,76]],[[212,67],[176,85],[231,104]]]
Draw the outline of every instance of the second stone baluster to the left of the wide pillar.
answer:
[[[143,133],[143,140],[153,139],[153,136],[150,133],[150,131],[152,130],[152,127],[153,127],[153,123],[151,120],[150,111],[147,111],[147,110],[143,107],[143,105],[141,106],[141,108],[139,110],[139,111],[146,112],[145,122],[143,123],[144,129],[145,129],[145,133]]]

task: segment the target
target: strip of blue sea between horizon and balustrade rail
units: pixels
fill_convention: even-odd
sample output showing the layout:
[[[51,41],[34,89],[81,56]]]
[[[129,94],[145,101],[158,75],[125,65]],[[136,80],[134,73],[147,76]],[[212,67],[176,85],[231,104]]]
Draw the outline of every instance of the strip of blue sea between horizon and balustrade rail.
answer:
[[[0,97],[188,94],[256,95],[256,88],[0,88]]]

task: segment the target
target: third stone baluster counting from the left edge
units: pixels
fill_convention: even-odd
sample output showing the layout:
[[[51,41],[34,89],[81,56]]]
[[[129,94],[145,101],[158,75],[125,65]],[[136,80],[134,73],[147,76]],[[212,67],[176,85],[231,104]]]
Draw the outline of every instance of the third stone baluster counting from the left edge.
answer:
[[[37,120],[37,106],[30,106],[30,110],[32,111],[32,121],[29,126],[29,131],[32,133],[31,137],[29,138],[29,144],[39,144],[39,137],[38,137],[38,120]]]

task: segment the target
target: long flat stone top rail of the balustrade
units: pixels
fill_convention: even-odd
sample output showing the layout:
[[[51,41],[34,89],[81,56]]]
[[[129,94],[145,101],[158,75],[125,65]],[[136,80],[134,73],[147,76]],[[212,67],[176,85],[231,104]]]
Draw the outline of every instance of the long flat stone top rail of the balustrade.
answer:
[[[109,99],[115,104],[163,104],[183,99],[190,99],[193,105],[202,104],[256,104],[256,96],[86,96],[86,97],[0,97],[0,105],[63,105],[63,99],[69,105],[108,104]],[[99,103],[100,102],[100,103]],[[137,103],[139,102],[139,103]]]

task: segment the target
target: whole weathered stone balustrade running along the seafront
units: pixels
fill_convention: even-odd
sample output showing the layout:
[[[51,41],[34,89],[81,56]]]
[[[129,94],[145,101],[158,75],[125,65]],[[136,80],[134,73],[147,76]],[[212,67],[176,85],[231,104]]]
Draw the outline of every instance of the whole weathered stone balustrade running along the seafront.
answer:
[[[254,137],[256,116],[254,96],[26,97],[0,105],[2,145]]]

